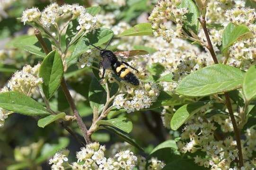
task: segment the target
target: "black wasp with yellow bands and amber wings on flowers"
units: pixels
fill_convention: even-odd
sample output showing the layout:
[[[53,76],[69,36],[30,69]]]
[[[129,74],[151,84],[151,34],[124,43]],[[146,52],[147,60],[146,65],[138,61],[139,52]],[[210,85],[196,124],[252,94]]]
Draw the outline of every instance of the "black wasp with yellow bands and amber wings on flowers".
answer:
[[[103,67],[103,74],[102,74],[102,77],[100,78],[99,82],[101,83],[103,81],[106,69],[111,68],[114,71],[115,75],[119,76],[124,81],[126,81],[128,83],[131,83],[132,85],[140,85],[140,81],[131,72],[131,70],[129,68],[132,68],[133,70],[135,70],[137,72],[139,72],[139,71],[137,69],[133,68],[132,66],[130,66],[127,62],[119,61],[117,59],[116,55],[131,57],[131,56],[135,56],[135,55],[138,55],[138,54],[148,54],[148,52],[143,51],[143,50],[117,51],[117,52],[113,52],[111,50],[106,50],[106,48],[108,47],[108,45],[112,41],[113,37],[106,44],[106,47],[103,50],[96,47],[95,45],[87,42],[87,41],[84,41],[88,45],[91,45],[91,46],[93,46],[94,48],[96,48],[97,50],[100,51],[100,56],[102,58],[102,61],[99,62],[99,68]]]

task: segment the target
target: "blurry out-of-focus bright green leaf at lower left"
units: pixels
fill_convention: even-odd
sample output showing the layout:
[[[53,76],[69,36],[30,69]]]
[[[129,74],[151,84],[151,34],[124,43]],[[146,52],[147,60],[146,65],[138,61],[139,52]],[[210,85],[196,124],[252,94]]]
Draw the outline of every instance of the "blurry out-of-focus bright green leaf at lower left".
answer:
[[[69,144],[67,137],[60,137],[58,144],[44,144],[41,155],[35,160],[36,164],[40,164],[53,156],[56,152],[65,149]]]

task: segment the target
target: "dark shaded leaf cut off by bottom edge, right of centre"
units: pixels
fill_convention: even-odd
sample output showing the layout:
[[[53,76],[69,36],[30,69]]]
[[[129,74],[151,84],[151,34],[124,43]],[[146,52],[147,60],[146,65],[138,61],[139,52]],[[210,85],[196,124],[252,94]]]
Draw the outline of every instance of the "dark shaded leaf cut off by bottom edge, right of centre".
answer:
[[[199,166],[191,159],[179,159],[168,163],[162,170],[208,170]]]

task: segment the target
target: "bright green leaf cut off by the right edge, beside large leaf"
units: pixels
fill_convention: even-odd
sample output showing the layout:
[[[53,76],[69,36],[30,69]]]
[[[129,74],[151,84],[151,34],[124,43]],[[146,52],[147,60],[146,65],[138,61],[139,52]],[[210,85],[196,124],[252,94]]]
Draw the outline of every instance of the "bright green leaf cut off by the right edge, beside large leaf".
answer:
[[[243,92],[247,102],[256,96],[256,65],[251,66],[245,74]]]

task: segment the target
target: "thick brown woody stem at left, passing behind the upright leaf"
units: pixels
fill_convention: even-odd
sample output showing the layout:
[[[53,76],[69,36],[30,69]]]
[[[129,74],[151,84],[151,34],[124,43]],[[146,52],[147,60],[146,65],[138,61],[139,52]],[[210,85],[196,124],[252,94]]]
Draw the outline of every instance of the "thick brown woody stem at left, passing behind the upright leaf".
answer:
[[[46,54],[48,54],[49,50],[47,49],[47,46],[46,46],[46,44],[45,44],[45,42],[43,40],[42,34],[40,33],[40,31],[38,29],[35,30],[35,36],[38,39],[39,43],[41,44],[42,48],[44,49],[44,52]],[[73,111],[74,115],[77,118],[76,120],[77,120],[78,126],[81,129],[81,131],[82,131],[82,134],[83,134],[83,137],[84,137],[86,143],[87,144],[91,143],[91,140],[90,140],[90,138],[88,137],[88,134],[87,134],[87,128],[86,128],[82,118],[79,115],[79,112],[78,112],[78,110],[76,108],[76,105],[75,105],[73,99],[72,99],[72,96],[70,94],[70,91],[68,89],[67,83],[66,83],[64,78],[62,78],[61,87],[62,87],[63,93],[65,94],[65,96],[66,96],[66,98],[67,98],[67,100],[68,100],[68,102],[70,104],[71,110]],[[66,129],[66,130],[68,132],[70,132],[71,129],[69,129],[69,130]],[[71,134],[71,135],[73,136],[73,134]]]

